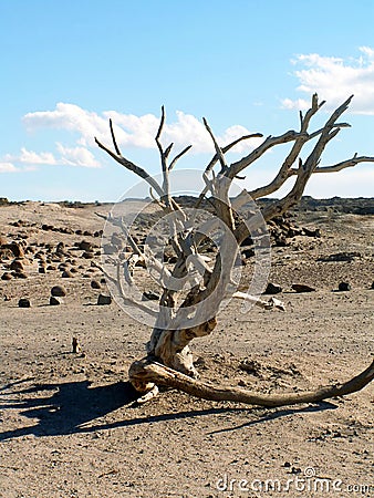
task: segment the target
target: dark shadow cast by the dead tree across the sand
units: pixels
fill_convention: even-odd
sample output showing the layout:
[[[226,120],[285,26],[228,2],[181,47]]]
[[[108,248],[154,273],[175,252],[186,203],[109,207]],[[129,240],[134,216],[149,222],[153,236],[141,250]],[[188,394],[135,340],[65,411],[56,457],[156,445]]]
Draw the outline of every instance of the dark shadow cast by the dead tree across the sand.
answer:
[[[212,407],[207,409],[191,409],[178,413],[134,417],[116,422],[100,422],[101,417],[121,407],[136,406],[138,393],[129,382],[116,382],[103,386],[91,387],[90,381],[66,382],[60,384],[35,384],[32,387],[13,391],[19,382],[4,386],[0,391],[4,403],[0,409],[18,409],[20,415],[37,418],[38,423],[27,427],[0,433],[0,440],[21,436],[34,435],[62,436],[75,433],[94,433],[120,427],[128,427],[156,422],[175,421],[227,413],[252,413],[260,411],[260,416],[241,426],[221,429],[215,433],[233,430],[271,421],[295,413],[308,413],[335,408],[331,403],[320,403],[289,409],[258,408],[258,407]],[[6,393],[3,392],[6,391]],[[51,393],[52,391],[52,393]],[[12,396],[12,398],[10,398]],[[15,396],[15,398],[14,398]],[[264,411],[264,412],[263,412]],[[94,424],[92,424],[95,421]],[[87,424],[85,426],[85,424]],[[212,433],[212,434],[215,434]]]

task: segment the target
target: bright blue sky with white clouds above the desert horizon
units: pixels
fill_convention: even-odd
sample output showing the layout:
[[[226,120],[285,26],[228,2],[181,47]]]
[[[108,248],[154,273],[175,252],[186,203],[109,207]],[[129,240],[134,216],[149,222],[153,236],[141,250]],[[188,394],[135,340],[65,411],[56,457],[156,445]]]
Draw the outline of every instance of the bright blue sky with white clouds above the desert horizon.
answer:
[[[157,174],[163,104],[164,139],[193,144],[179,168],[209,160],[201,116],[221,145],[278,135],[298,128],[315,91],[328,103],[312,128],[355,94],[352,128],[322,165],[374,156],[373,23],[372,0],[0,0],[0,197],[116,200],[137,179],[93,138],[108,143],[113,117],[123,155]],[[267,154],[243,186],[271,179],[285,153]],[[373,186],[368,163],[316,175],[307,194],[372,197]]]

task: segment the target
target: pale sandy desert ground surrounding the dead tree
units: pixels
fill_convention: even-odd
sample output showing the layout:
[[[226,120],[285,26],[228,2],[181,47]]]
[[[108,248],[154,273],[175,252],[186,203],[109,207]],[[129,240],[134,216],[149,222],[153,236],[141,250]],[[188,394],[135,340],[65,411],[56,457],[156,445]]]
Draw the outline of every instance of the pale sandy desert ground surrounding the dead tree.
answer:
[[[94,211],[106,210],[4,206],[0,235],[13,240],[24,234],[28,245],[64,241],[72,249],[86,239],[98,246],[97,237],[41,225],[95,231],[103,220]],[[9,225],[19,219],[23,226]],[[371,363],[373,216],[300,214],[298,222],[320,228],[322,237],[295,237],[272,251],[270,280],[282,286],[278,297],[287,312],[243,314],[231,303],[212,334],[193,344],[204,380],[293,392],[347,380]],[[361,256],[316,261],[340,251]],[[71,279],[59,270],[38,273],[28,253],[28,279],[0,280],[0,497],[374,496],[374,384],[290,408],[212,403],[174,391],[134,406],[127,369],[143,356],[150,331],[115,303],[96,305],[105,289],[92,289],[91,280],[100,272],[76,248],[70,255],[64,259],[77,269]],[[0,263],[0,274],[9,263]],[[352,290],[334,292],[343,280]],[[316,291],[298,294],[292,283]],[[54,284],[67,290],[60,307],[49,305]],[[20,298],[32,307],[18,308]],[[71,352],[73,336],[84,355]],[[323,492],[313,490],[313,474],[328,479]],[[272,479],[280,490],[271,489]]]

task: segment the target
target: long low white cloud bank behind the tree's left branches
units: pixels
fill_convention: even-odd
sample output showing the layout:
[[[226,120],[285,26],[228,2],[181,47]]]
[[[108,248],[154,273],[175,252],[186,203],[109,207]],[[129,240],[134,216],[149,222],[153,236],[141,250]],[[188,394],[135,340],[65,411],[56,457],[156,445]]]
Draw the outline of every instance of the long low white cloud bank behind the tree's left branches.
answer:
[[[54,129],[71,135],[69,145],[61,142],[53,144],[53,151],[35,152],[22,147],[19,154],[7,154],[0,159],[0,173],[25,170],[38,168],[42,165],[50,166],[77,166],[96,168],[101,167],[103,154],[94,142],[97,137],[102,143],[111,146],[110,118],[113,120],[117,144],[126,148],[156,148],[155,136],[159,126],[159,116],[145,114],[136,116],[122,114],[116,111],[104,111],[102,114],[84,110],[75,104],[60,102],[52,111],[37,111],[23,116],[22,122],[25,129],[31,133],[42,133]],[[251,133],[243,126],[235,125],[228,127],[217,139],[220,144],[239,138]],[[187,145],[193,145],[193,153],[215,153],[212,142],[201,123],[191,114],[181,111],[176,112],[176,121],[165,123],[162,141],[165,146],[175,144],[175,151],[181,151]],[[235,151],[238,153],[249,152],[254,148],[261,139],[238,144]],[[73,144],[73,146],[72,146]]]

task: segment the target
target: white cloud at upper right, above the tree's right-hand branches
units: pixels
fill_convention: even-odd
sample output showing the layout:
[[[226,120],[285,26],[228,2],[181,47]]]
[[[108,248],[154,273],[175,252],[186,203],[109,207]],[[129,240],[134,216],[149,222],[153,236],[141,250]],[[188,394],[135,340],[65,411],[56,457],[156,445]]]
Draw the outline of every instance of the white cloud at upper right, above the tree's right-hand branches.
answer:
[[[323,56],[316,53],[301,54],[291,61],[303,69],[294,71],[300,85],[297,87],[310,96],[316,92],[328,105],[336,107],[354,94],[351,111],[355,114],[374,114],[374,50],[360,48],[361,55],[347,60]],[[310,106],[310,98],[284,98],[285,108],[304,110]]]

